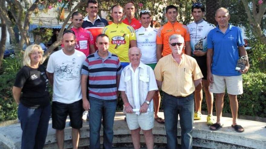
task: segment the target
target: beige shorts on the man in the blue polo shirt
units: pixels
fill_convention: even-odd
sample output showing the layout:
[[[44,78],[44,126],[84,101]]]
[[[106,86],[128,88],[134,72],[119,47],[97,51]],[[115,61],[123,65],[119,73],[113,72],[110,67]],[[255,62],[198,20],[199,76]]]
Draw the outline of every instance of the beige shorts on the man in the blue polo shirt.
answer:
[[[224,93],[225,87],[228,94],[240,95],[243,93],[243,80],[240,76],[213,76],[213,83],[210,83],[209,91],[212,93]]]

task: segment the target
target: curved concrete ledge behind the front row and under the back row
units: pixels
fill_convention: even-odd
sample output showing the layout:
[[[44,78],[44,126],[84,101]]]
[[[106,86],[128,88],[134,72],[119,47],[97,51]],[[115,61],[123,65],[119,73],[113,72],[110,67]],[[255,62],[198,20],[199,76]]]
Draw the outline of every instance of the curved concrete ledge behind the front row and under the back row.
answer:
[[[163,113],[159,113],[160,117],[164,117]],[[69,120],[67,120],[69,121]],[[211,131],[206,125],[206,115],[202,116],[202,120],[194,121],[193,129],[193,146],[213,148],[213,149],[265,149],[266,148],[266,123],[240,120],[238,123],[245,128],[245,132],[235,132],[231,127],[232,118],[223,117],[224,127],[218,131]],[[178,123],[178,142],[180,143],[181,129]],[[65,148],[71,148],[71,127],[66,123],[65,129]],[[21,127],[20,124],[0,127],[0,148],[1,149],[19,149],[21,144]],[[166,144],[166,132],[164,124],[154,122],[154,142]],[[100,132],[102,144],[102,129]],[[114,123],[114,144],[131,143],[130,130],[124,121],[122,112],[117,112]],[[141,135],[141,142],[145,142],[144,136]],[[83,128],[80,133],[79,146],[89,145],[89,122],[83,122]],[[52,123],[49,122],[48,135],[45,143],[45,149],[57,148],[55,130],[52,129]]]

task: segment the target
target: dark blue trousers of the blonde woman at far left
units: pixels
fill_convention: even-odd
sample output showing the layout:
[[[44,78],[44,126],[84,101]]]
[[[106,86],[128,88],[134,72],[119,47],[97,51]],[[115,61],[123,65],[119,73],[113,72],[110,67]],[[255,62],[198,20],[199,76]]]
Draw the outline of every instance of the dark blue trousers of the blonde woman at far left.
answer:
[[[47,136],[51,106],[32,109],[18,106],[18,119],[22,129],[21,149],[42,149]]]

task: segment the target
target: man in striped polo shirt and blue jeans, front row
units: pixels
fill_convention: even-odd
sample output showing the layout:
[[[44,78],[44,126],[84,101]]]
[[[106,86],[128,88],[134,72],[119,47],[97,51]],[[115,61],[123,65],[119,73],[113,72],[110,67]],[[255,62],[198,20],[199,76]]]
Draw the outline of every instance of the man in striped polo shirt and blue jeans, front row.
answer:
[[[108,51],[109,37],[107,35],[98,35],[96,46],[98,50],[86,58],[81,71],[83,108],[89,110],[89,134],[93,136],[89,138],[89,148],[100,148],[102,119],[103,147],[112,148],[117,88],[122,67],[117,55]],[[89,99],[86,95],[87,81]]]

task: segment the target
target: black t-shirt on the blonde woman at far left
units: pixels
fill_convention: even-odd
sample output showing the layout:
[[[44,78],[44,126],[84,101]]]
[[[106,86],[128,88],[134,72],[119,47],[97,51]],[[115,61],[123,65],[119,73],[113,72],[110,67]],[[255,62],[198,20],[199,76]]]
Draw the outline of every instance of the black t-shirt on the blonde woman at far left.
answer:
[[[50,104],[47,90],[48,78],[43,65],[37,69],[22,67],[17,73],[14,86],[22,88],[20,102],[24,106],[39,108]]]

